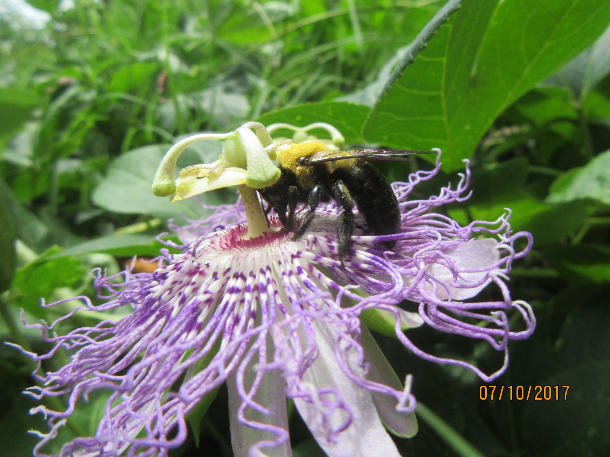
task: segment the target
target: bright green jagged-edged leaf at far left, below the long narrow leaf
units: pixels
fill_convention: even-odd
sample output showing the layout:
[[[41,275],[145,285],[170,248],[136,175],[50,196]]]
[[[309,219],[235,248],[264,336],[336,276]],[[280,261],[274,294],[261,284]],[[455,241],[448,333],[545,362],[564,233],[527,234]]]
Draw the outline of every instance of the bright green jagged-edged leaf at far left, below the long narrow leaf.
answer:
[[[40,306],[40,299],[49,302],[55,289],[79,285],[85,277],[85,269],[76,258],[51,258],[59,247],[52,247],[37,260],[18,269],[13,280],[13,304],[28,313],[45,319],[46,309]]]

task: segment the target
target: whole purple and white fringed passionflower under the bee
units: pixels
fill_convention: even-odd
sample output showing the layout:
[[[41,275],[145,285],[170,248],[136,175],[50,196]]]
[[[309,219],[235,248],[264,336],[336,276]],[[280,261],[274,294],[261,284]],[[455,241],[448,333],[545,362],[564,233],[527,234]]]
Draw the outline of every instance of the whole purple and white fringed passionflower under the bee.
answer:
[[[295,130],[295,138],[271,140],[269,132],[278,126]],[[278,180],[276,152],[309,141],[307,130],[314,127],[331,133],[328,147],[343,145],[343,137],[328,124],[265,129],[249,122],[225,135],[192,136],[170,149],[154,193],[178,200],[238,185],[243,204],[218,207],[204,221],[181,228],[184,251],[170,255],[166,250],[152,274],[127,270],[117,283],[119,275],[98,271],[95,284],[110,300],[93,306],[79,297],[84,305],[68,314],[127,306],[134,309],[128,316],[64,336],[51,330],[56,323],[27,325],[40,328],[54,344],[45,355],[30,353],[39,369],[60,348],[73,352],[57,372],[35,372],[41,386],[29,389],[34,397],[70,394],[66,411],[32,409],[49,417],[51,426],[50,433],[39,433],[43,440],[35,455],[44,455],[41,447],[56,436],[77,399],[94,389],[112,392],[97,433],[73,439],[59,455],[167,455],[184,442],[187,415],[209,405],[226,381],[235,456],[292,455],[289,397],[329,456],[398,457],[386,429],[403,437],[417,432],[412,378],[407,376],[403,386],[363,320],[373,328],[391,328],[418,356],[467,367],[485,381],[506,369],[509,339],[527,338],[535,325],[530,306],[513,301],[503,282],[512,261],[531,249],[531,235],[511,233],[510,212],[495,222],[466,227],[434,213],[440,205],[468,199],[468,163],[456,189],[447,186],[438,196],[409,200],[418,183],[439,171],[439,151],[432,171],[418,171],[392,185],[400,233],[373,236],[355,211],[351,250],[340,259],[340,209],[331,202],[318,207],[312,224],[295,239],[282,229],[277,214],[270,213],[267,221],[255,189]],[[193,141],[209,138],[226,139],[219,160],[185,168],[174,180],[178,155]],[[527,246],[515,252],[520,237]],[[387,251],[380,243],[390,240],[396,244]],[[461,301],[492,282],[502,300]],[[397,306],[403,300],[419,303],[418,313]],[[522,316],[525,330],[509,328],[512,309]],[[487,341],[504,352],[504,363],[486,375],[465,361],[423,352],[405,330],[424,323]]]

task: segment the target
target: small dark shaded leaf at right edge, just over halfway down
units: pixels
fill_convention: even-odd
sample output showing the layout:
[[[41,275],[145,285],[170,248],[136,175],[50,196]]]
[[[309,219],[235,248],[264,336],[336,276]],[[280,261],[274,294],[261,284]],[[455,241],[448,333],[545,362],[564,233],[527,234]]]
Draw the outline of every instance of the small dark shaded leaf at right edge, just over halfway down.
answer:
[[[571,283],[610,282],[610,247],[562,246],[549,253],[551,265]]]

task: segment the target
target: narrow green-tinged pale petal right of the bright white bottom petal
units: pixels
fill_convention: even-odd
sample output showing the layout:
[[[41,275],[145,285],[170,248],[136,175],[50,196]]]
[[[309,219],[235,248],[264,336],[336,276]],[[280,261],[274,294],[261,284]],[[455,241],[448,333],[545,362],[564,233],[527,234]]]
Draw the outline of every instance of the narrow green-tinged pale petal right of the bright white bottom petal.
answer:
[[[366,325],[361,325],[362,336],[360,344],[364,349],[365,360],[370,363],[367,379],[377,383],[386,384],[398,391],[403,390],[403,384],[398,379],[398,375],[394,372],[389,361],[377,342],[368,331]],[[373,395],[373,403],[381,417],[382,422],[388,430],[397,436],[403,438],[411,438],[417,433],[417,419],[415,413],[404,414],[396,410],[398,400],[390,395],[381,394],[380,392],[371,392]]]

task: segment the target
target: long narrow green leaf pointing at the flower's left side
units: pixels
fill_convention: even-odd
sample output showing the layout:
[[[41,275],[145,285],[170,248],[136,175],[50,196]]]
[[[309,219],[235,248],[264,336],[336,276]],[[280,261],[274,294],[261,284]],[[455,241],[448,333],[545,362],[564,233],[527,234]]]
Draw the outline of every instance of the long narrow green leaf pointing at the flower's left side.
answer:
[[[68,249],[56,253],[52,258],[82,255],[91,252],[110,254],[115,257],[132,257],[134,255],[139,257],[157,257],[159,250],[163,247],[169,249],[171,253],[179,252],[172,247],[159,243],[155,236],[110,235],[68,247]]]

